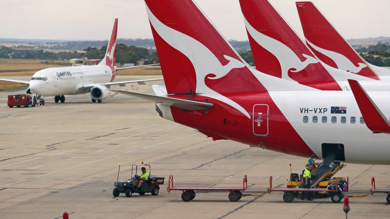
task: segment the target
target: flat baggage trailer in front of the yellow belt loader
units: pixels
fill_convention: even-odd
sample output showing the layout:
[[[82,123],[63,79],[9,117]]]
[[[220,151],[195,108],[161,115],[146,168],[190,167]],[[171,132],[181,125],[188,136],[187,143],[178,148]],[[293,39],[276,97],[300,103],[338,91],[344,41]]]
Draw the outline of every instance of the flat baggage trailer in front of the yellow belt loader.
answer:
[[[329,187],[328,187],[329,188]],[[349,189],[349,177],[347,177],[347,189],[342,190],[340,187],[328,189],[328,188],[272,188],[272,176],[269,177],[269,187],[267,192],[271,194],[272,191],[284,192],[283,200],[287,203],[290,203],[294,200],[294,197],[298,196],[299,193],[303,192],[316,192],[316,193],[326,193],[330,195],[330,198],[334,203],[339,203],[344,197],[343,192],[348,192]],[[302,194],[303,195],[303,194]]]

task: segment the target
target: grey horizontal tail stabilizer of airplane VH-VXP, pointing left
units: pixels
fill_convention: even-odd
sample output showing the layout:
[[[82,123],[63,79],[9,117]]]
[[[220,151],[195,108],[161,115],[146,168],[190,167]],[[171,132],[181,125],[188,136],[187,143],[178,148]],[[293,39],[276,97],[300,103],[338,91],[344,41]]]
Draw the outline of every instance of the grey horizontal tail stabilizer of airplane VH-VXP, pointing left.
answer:
[[[142,94],[137,92],[131,92],[126,90],[111,90],[113,92],[117,92],[120,94],[125,94],[133,97],[138,97],[141,99],[146,99],[152,102],[156,102],[158,104],[166,105],[166,106],[172,106],[179,109],[188,109],[188,110],[201,110],[201,109],[209,109],[214,106],[214,104],[209,102],[199,102],[199,101],[190,101],[190,100],[184,100],[184,99],[177,99],[172,97],[163,97],[163,96],[156,96],[151,94]]]

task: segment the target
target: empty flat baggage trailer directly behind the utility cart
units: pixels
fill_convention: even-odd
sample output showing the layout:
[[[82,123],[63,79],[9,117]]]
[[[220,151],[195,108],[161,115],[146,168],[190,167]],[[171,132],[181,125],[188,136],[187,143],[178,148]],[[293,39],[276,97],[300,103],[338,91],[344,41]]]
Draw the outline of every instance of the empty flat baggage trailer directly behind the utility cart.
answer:
[[[183,191],[181,199],[183,201],[191,201],[195,198],[195,191],[230,191],[228,197],[230,201],[238,201],[244,196],[262,196],[254,194],[243,194],[241,191],[245,191],[248,188],[248,180],[246,175],[243,177],[243,187],[175,187],[173,182],[173,176],[170,175],[168,178],[167,191],[170,193],[172,190]]]

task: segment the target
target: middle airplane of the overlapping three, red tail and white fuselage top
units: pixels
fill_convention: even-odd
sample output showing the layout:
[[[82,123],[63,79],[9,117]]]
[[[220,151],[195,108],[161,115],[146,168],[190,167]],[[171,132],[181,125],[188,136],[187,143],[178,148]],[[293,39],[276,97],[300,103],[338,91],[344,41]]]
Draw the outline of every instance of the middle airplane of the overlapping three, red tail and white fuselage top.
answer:
[[[342,71],[318,60],[268,0],[239,0],[256,69],[320,90],[351,90],[347,79],[367,90],[389,90],[389,82]]]

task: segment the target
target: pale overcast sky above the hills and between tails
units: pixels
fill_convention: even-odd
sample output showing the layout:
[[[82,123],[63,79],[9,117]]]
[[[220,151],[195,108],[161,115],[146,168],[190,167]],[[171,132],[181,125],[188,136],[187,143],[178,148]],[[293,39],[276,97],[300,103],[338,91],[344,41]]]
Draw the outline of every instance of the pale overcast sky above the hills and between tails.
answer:
[[[247,40],[238,0],[195,0],[227,39]],[[389,0],[312,0],[346,38],[390,36]],[[271,0],[303,37],[295,0]],[[152,38],[143,0],[0,0],[0,38]]]

